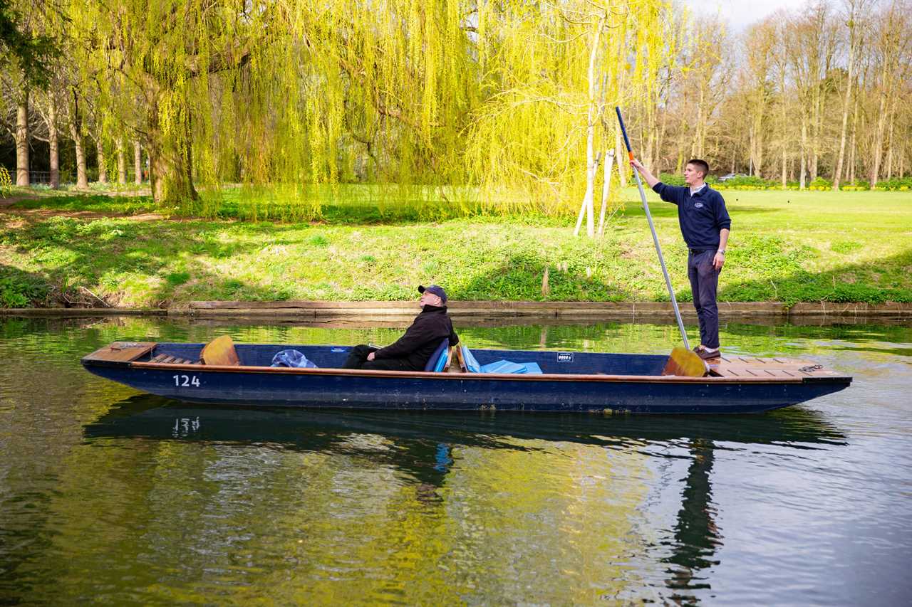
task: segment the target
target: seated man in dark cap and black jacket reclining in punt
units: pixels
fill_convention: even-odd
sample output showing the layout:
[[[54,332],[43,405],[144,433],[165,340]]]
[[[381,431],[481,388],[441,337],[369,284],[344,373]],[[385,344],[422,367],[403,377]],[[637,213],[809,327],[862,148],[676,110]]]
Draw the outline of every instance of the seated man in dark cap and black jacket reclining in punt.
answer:
[[[453,324],[447,314],[447,293],[436,284],[420,286],[418,292],[421,293],[421,314],[405,334],[395,344],[385,348],[356,345],[348,355],[344,368],[423,371],[430,355],[434,354],[444,337],[450,338],[450,345],[459,344],[459,336],[453,332]]]

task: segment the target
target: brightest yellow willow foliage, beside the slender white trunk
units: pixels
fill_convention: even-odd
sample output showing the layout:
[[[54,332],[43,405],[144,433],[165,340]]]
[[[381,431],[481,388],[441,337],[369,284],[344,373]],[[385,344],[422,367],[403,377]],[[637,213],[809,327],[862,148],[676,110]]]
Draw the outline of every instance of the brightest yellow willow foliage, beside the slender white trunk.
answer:
[[[616,145],[614,106],[626,107],[628,118],[631,109],[653,106],[653,79],[670,57],[667,8],[655,0],[479,5],[485,95],[467,129],[467,166],[493,206],[549,214],[578,208],[590,106],[594,149],[604,159]]]

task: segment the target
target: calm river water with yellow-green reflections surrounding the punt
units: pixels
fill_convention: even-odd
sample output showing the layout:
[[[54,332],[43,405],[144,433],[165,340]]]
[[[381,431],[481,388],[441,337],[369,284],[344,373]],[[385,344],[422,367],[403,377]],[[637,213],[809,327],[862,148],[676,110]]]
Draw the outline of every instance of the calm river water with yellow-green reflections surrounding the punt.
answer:
[[[656,324],[461,328],[658,354]],[[118,339],[400,330],[0,318],[0,604],[906,605],[912,328],[728,324],[840,393],[753,416],[182,405],[91,376]]]

